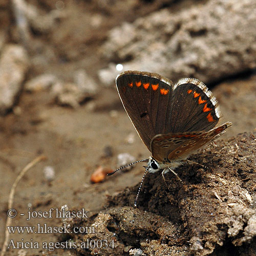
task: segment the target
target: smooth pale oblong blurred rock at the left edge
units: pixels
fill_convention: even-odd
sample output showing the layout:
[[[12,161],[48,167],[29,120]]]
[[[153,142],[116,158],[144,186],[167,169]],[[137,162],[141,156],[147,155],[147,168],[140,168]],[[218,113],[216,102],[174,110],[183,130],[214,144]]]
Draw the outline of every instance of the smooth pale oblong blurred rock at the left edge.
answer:
[[[0,57],[0,114],[11,109],[22,89],[29,60],[25,49],[18,45],[7,45]]]

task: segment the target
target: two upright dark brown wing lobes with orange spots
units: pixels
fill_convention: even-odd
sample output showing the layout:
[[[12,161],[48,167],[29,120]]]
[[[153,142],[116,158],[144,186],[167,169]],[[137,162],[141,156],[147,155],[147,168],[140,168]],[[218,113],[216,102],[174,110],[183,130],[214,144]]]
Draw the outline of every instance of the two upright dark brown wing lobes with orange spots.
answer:
[[[116,86],[124,109],[150,151],[156,150],[151,141],[158,134],[188,133],[186,136],[193,136],[194,132],[214,129],[219,122],[218,102],[198,79],[183,78],[173,86],[172,81],[158,74],[126,71],[117,76]],[[179,146],[179,143],[171,144],[169,153]],[[164,153],[155,151],[153,156]]]

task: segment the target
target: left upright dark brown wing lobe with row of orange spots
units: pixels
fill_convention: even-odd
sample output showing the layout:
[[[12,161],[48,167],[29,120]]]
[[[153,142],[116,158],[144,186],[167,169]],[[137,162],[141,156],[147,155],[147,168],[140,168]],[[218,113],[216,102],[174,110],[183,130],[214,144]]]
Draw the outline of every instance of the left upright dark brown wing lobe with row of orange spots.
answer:
[[[125,71],[117,76],[116,86],[127,115],[151,150],[153,137],[169,127],[173,82],[158,74]]]

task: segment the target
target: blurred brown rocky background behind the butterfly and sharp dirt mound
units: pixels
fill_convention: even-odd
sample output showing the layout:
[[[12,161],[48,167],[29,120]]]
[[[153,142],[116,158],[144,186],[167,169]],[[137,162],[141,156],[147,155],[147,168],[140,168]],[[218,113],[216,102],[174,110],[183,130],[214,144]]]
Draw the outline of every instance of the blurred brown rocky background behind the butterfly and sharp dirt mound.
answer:
[[[116,91],[122,71],[196,77],[217,97],[222,122],[233,123],[223,138],[254,131],[255,10],[255,0],[0,0],[0,244],[11,186],[40,154],[47,160],[17,187],[20,212],[64,204],[97,212],[106,196],[140,181],[141,165],[105,179],[150,155]]]

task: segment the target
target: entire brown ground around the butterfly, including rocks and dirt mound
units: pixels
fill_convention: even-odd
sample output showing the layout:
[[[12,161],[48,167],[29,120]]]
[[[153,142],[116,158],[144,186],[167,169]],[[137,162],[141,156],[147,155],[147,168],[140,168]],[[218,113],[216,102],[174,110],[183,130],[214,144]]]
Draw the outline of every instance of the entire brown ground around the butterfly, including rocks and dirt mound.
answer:
[[[256,255],[255,8],[253,0],[0,1],[0,248],[11,187],[39,155],[46,160],[16,187],[10,226],[95,228],[10,233],[8,245],[34,248],[5,255]],[[197,163],[176,169],[182,182],[146,175],[138,208],[142,164],[104,175],[120,153],[150,155],[115,89],[118,63],[201,79],[222,122],[233,123],[189,158]],[[97,169],[105,179],[93,184]],[[89,218],[26,220],[63,205]],[[78,246],[57,249],[65,241]],[[53,250],[42,246],[50,242]]]

